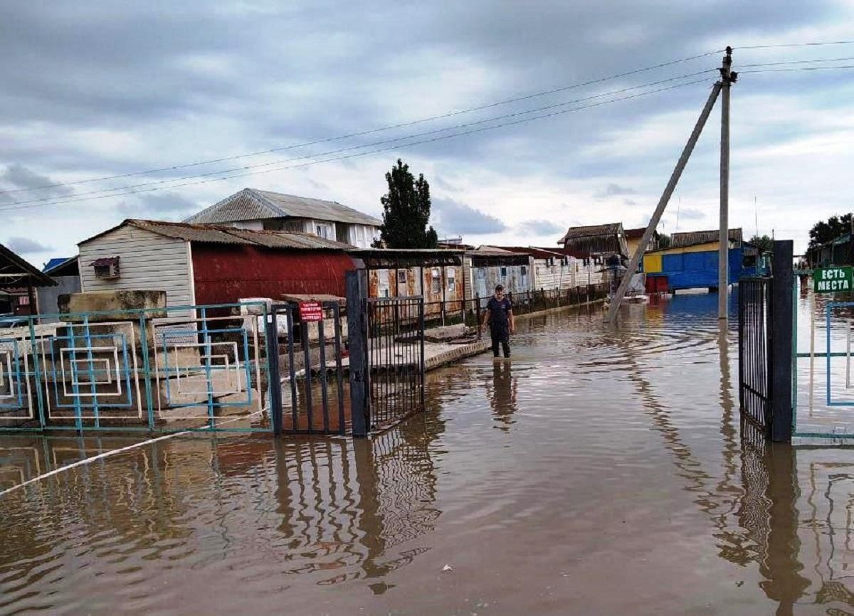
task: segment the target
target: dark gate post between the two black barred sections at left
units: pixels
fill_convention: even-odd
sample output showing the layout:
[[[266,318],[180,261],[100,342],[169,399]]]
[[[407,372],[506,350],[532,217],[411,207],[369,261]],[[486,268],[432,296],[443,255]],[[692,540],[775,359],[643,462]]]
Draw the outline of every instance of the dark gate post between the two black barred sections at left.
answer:
[[[368,434],[368,403],[366,390],[366,301],[365,289],[358,271],[348,271],[347,282],[347,336],[350,359],[350,412],[353,435]],[[396,282],[396,278],[395,278]]]

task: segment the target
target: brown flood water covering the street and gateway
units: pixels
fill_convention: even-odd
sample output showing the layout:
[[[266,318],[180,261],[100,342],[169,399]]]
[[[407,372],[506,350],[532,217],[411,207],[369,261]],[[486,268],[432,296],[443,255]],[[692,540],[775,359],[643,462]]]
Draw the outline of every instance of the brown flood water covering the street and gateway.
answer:
[[[854,613],[854,452],[742,441],[716,310],[520,321],[373,439],[178,437],[9,492],[0,613]],[[0,490],[129,442],[2,437]]]

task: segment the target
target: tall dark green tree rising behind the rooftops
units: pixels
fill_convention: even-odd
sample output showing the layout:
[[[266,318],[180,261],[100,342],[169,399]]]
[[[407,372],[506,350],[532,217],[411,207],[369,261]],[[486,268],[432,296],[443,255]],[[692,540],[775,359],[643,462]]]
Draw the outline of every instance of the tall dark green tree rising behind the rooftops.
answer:
[[[430,184],[424,174],[412,176],[402,160],[385,174],[389,192],[383,195],[383,226],[377,245],[387,248],[435,248],[439,240],[430,222]]]

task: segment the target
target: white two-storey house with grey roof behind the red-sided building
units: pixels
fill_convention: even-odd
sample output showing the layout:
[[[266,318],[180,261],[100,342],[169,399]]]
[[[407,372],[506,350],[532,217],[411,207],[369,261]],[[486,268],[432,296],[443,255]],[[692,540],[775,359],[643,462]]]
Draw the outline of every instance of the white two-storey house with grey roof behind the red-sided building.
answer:
[[[243,189],[225,197],[184,222],[307,233],[360,248],[371,246],[383,224],[382,220],[337,201],[258,189]]]

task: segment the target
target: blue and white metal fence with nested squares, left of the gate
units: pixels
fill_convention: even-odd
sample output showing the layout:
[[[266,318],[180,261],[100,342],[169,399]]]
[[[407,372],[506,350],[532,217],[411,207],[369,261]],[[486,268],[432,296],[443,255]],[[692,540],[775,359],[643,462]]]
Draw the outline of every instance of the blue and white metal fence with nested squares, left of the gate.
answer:
[[[186,305],[0,328],[0,430],[270,431],[267,314]]]

